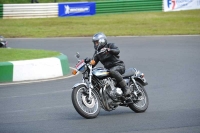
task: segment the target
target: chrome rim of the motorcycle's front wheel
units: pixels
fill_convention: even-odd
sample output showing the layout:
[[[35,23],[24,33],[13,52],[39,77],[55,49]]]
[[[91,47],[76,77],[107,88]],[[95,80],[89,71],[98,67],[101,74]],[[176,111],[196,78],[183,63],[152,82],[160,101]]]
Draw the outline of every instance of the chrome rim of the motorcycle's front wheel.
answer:
[[[92,93],[91,100],[88,99],[88,95],[84,92],[85,87],[79,88],[76,94],[76,99],[79,107],[87,114],[95,114],[98,110],[99,103],[96,95]]]

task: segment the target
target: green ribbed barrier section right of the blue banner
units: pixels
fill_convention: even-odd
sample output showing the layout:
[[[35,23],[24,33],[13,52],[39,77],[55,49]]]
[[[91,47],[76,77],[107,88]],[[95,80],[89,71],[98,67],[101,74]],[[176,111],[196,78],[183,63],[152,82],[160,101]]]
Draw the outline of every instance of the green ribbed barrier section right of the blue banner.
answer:
[[[112,0],[96,2],[96,14],[162,11],[162,0]]]

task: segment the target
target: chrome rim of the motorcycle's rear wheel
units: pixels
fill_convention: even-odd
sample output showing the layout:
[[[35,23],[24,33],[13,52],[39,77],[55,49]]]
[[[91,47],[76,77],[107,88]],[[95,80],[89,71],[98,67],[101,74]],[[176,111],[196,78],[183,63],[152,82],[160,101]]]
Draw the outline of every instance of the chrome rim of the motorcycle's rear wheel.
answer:
[[[131,85],[131,87],[133,87],[133,85]],[[141,89],[141,87],[139,85],[138,85],[138,89],[141,91],[142,96],[137,100],[133,100],[134,101],[133,104],[137,108],[143,108],[147,103],[147,98],[146,98],[146,95],[145,95],[143,89]]]

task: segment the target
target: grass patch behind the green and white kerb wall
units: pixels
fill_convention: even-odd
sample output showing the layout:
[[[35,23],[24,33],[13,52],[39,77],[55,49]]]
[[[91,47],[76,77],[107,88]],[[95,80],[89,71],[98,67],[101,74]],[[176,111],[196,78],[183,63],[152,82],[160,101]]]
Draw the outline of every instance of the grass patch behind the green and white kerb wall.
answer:
[[[0,48],[0,62],[30,60],[59,56],[59,52],[47,50],[5,49]]]

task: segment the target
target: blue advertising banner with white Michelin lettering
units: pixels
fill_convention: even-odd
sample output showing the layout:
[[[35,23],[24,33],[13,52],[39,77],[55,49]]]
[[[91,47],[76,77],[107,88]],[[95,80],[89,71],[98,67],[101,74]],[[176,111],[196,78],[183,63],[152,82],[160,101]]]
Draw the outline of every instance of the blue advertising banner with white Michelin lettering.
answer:
[[[59,17],[95,15],[95,2],[59,3]]]

